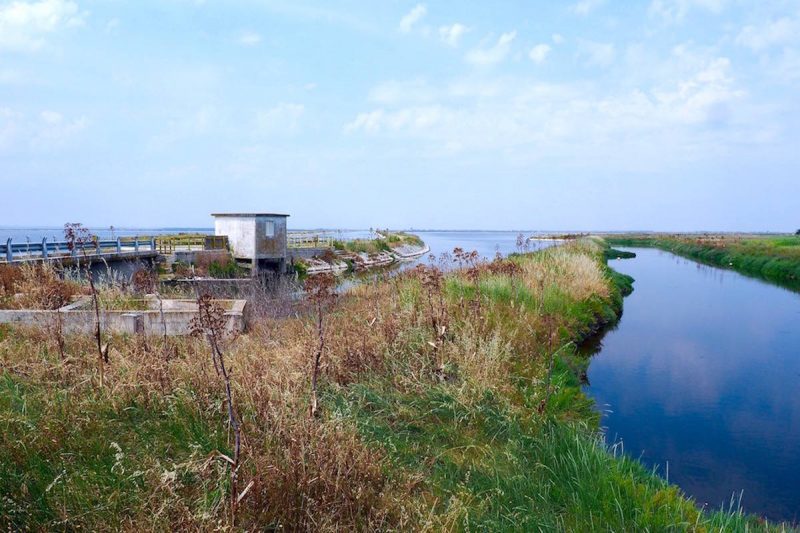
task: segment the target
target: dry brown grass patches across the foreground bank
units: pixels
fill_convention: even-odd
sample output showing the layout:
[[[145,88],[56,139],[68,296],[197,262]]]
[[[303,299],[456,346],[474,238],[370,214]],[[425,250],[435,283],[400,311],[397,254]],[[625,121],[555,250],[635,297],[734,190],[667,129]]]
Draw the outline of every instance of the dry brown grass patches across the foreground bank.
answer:
[[[457,275],[470,286],[492,278],[511,279],[539,299],[550,285],[558,285],[575,299],[607,295],[596,260],[577,246],[590,245],[548,251],[521,266],[473,265],[473,272]],[[314,531],[422,525],[430,512],[424,484],[417,487],[419,480],[413,474],[391,470],[384,453],[367,445],[352,421],[326,403],[326,391],[342,390],[371,376],[389,379],[398,390],[409,392],[422,391],[431,383],[450,383],[464,405],[477,401],[486,390],[510,391],[508,366],[514,354],[526,354],[534,365],[544,364],[540,355],[547,348],[553,320],[530,310],[522,312],[521,304],[501,305],[478,294],[482,301],[477,303],[459,301],[448,296],[438,276],[412,272],[357,287],[340,298],[325,316],[318,419],[308,416],[309,376],[319,346],[317,323],[311,316],[301,312],[275,319],[258,314],[248,334],[222,339],[242,423],[239,490],[249,487],[238,506],[236,525]],[[224,395],[208,347],[202,339],[188,337],[170,342],[174,345],[162,350],[163,339],[158,336],[147,342],[115,336],[101,391],[96,387],[99,376],[89,337],[69,337],[67,356],[59,359],[45,333],[18,330],[0,341],[0,365],[4,372],[60,393],[100,398],[110,410],[188,396],[208,415],[209,423],[223,426]],[[187,496],[189,488],[180,486],[176,481],[180,476],[170,473],[190,472],[199,487],[195,490],[210,490],[223,483],[226,466],[203,455],[192,455],[180,465],[158,460],[141,465],[148,489],[142,509],[132,511],[126,524],[230,528],[233,520],[227,506],[199,513]],[[146,511],[150,508],[152,513]]]

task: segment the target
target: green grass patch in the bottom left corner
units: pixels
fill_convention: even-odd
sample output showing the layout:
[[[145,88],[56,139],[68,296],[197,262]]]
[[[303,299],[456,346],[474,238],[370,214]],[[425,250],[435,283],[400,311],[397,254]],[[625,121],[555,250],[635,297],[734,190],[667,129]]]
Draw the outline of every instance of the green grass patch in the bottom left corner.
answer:
[[[227,477],[201,479],[192,466],[226,449],[217,418],[188,396],[115,406],[99,392],[54,391],[5,374],[0,525],[106,529],[109,519],[146,517],[147,496],[160,484],[165,500],[174,488],[193,511],[218,505]]]

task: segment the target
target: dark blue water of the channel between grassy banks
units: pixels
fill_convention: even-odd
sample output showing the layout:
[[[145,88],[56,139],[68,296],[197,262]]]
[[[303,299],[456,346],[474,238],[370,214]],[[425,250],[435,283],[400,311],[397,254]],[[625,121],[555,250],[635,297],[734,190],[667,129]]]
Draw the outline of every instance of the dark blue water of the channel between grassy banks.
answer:
[[[800,294],[653,249],[592,359],[609,442],[700,504],[800,519]]]

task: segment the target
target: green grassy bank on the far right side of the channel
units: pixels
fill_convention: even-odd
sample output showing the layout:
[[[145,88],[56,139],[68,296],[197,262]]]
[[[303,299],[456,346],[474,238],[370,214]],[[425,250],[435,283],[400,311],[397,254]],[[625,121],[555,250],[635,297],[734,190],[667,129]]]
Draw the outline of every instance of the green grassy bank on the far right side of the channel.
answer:
[[[655,247],[800,290],[800,236],[610,235],[617,246]]]

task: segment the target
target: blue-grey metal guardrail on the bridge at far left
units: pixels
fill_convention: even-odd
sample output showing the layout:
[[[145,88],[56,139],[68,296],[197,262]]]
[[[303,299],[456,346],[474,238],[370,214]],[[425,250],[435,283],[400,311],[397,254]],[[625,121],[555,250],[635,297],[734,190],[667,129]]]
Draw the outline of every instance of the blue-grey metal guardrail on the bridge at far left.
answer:
[[[48,242],[47,238],[41,242],[15,243],[9,238],[5,244],[0,244],[0,262],[13,263],[14,261],[49,260],[69,257],[97,257],[121,253],[155,252],[156,240],[154,238],[141,239],[118,238],[116,240],[93,240],[86,243],[75,243],[70,250],[66,241]]]

